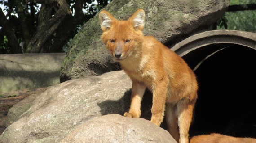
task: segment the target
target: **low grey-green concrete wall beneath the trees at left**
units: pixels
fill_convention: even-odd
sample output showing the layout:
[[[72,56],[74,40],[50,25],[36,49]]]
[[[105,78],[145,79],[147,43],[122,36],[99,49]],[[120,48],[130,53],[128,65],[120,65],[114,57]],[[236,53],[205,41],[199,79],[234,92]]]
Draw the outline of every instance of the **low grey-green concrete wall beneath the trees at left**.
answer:
[[[0,92],[60,83],[66,53],[0,54]]]

